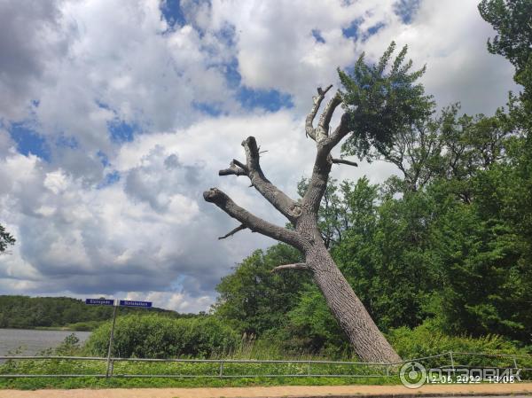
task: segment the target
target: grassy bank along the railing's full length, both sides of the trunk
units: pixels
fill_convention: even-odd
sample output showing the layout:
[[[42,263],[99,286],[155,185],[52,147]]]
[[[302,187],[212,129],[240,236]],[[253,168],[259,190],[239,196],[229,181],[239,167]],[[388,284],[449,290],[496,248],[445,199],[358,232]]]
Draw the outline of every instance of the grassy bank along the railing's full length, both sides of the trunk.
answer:
[[[234,357],[231,359],[235,359]],[[296,360],[295,358],[290,358]],[[299,357],[299,363],[208,363],[116,362],[113,378],[98,377],[106,373],[106,360],[79,361],[66,359],[17,360],[0,364],[0,373],[30,374],[33,378],[0,378],[0,389],[41,388],[110,388],[110,387],[201,387],[201,386],[341,386],[341,385],[398,385],[397,376],[386,377],[386,369],[376,366],[348,363],[309,363],[323,358]],[[507,358],[475,355],[455,355],[457,366],[512,367]],[[448,365],[447,358],[421,361],[429,367]],[[520,358],[520,368],[530,366],[530,360]],[[392,371],[397,371],[394,369]],[[307,374],[312,376],[307,377]],[[80,378],[44,378],[39,375],[88,375]],[[94,376],[90,376],[94,375]],[[136,377],[143,375],[144,377]],[[153,377],[158,375],[159,377]],[[246,377],[243,377],[246,375]],[[266,377],[274,375],[274,377]],[[293,375],[297,375],[294,377]],[[320,375],[319,377],[317,375]],[[345,375],[345,377],[338,377]],[[351,375],[357,375],[352,377]],[[163,378],[160,376],[170,376]],[[195,376],[192,378],[191,376]],[[523,372],[523,380],[532,373]]]

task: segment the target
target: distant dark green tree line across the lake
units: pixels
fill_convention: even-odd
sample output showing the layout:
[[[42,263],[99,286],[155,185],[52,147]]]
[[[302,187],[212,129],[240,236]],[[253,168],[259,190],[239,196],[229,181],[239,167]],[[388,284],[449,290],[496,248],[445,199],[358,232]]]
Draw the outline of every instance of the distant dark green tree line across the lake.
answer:
[[[151,308],[171,317],[192,316],[160,308]],[[147,313],[145,308],[120,308],[122,315]],[[67,297],[0,296],[0,328],[35,328],[73,325],[76,330],[91,330],[113,317],[113,308],[89,306]]]

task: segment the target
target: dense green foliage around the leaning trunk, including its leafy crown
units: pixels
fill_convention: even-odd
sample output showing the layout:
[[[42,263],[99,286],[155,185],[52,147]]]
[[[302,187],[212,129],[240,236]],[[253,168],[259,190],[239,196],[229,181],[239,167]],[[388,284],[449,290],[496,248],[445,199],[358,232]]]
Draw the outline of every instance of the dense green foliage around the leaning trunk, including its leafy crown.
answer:
[[[318,222],[356,294],[409,357],[532,347],[532,2],[484,0],[479,10],[497,30],[489,51],[512,62],[523,87],[494,115],[458,104],[437,113],[406,49],[390,62],[394,44],[376,65],[363,56],[339,71],[353,130],[342,154],[398,172],[380,184],[330,181]],[[218,285],[215,314],[286,349],[342,355],[346,339],[309,276],[286,271],[285,286],[268,274],[296,257],[284,245],[255,252]]]

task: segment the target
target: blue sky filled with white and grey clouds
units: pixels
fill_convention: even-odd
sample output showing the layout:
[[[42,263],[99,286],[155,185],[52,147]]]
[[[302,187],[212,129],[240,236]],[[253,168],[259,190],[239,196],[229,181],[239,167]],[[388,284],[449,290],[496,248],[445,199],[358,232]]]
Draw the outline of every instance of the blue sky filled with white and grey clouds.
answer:
[[[486,51],[475,0],[0,0],[0,294],[153,300],[194,312],[273,241],[201,192],[285,222],[241,177],[218,177],[253,135],[293,195],[317,86],[365,51],[408,44],[439,105],[505,103],[512,67]],[[333,169],[382,181],[387,164]]]

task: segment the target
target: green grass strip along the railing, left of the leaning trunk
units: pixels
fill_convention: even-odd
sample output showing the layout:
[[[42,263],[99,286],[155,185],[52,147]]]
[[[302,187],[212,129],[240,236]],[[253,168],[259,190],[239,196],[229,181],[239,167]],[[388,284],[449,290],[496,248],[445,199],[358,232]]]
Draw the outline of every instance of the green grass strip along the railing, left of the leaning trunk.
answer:
[[[113,378],[0,378],[0,388],[39,389],[39,388],[109,388],[109,387],[201,387],[201,386],[334,386],[334,385],[384,385],[398,384],[398,378],[334,378],[278,376],[274,378],[124,378],[122,374],[188,374],[216,376],[219,363],[135,363],[114,364]],[[306,363],[224,363],[225,375],[242,374],[306,374]],[[367,367],[342,366],[334,364],[312,364],[312,371],[320,374],[372,374]],[[104,361],[67,360],[28,360],[11,361],[0,365],[3,374],[104,374]],[[352,373],[351,373],[352,374]]]

